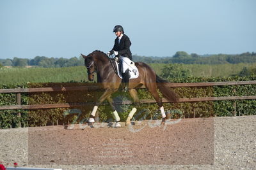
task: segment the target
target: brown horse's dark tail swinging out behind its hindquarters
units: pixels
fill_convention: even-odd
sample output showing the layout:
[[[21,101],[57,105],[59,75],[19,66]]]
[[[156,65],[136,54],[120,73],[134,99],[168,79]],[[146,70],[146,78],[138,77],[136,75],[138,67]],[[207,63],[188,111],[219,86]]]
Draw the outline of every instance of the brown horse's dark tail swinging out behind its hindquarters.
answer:
[[[168,88],[168,86],[166,85],[166,83],[168,83],[168,81],[163,80],[163,78],[156,75],[156,83],[157,83],[158,89],[161,91],[163,96],[166,97],[166,99],[168,99],[169,101],[172,101],[172,102],[178,101],[179,95],[176,94],[170,88]]]

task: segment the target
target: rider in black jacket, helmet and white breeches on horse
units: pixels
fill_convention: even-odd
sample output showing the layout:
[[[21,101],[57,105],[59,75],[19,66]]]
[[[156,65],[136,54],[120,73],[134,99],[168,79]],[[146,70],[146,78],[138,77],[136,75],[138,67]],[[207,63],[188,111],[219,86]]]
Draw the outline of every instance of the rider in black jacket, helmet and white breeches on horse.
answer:
[[[131,41],[127,35],[124,34],[124,28],[121,25],[116,25],[113,29],[116,34],[115,45],[108,55],[115,54],[115,60],[120,59],[122,62],[122,77],[125,85],[125,92],[129,87],[129,65],[132,62],[132,53],[130,50]]]

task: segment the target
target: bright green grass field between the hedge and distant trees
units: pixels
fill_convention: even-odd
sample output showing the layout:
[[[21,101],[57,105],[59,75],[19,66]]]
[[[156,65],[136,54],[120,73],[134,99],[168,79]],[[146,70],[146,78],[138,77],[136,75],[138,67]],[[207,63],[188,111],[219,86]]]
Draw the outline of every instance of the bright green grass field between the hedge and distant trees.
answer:
[[[158,75],[166,64],[149,64]],[[191,71],[193,76],[231,76],[238,74],[243,67],[256,67],[252,64],[186,64],[184,65]],[[2,67],[0,69],[0,84],[26,83],[26,82],[68,82],[68,81],[88,81],[86,68],[77,67]]]

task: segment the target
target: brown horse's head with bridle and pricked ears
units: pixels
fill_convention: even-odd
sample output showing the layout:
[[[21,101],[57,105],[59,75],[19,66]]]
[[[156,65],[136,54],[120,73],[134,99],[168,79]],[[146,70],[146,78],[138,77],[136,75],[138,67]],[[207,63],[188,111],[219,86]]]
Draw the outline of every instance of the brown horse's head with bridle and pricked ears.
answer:
[[[81,53],[82,57],[84,58],[84,66],[87,68],[88,73],[88,80],[93,81],[94,80],[94,73],[97,71],[95,66],[95,60],[93,59],[93,55],[83,55]]]

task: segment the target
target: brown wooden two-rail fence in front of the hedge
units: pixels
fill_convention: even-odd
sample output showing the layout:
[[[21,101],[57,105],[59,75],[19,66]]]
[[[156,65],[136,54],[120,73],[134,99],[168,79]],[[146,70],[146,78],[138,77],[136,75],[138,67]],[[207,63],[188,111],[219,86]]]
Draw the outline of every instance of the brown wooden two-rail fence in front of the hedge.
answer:
[[[256,85],[256,81],[221,81],[221,82],[204,82],[204,83],[168,83],[168,87],[210,87],[221,85]],[[12,106],[0,106],[0,110],[36,110],[36,109],[48,109],[48,108],[70,108],[77,106],[86,106],[88,103],[58,103],[58,104],[34,104],[34,105],[21,105],[20,94],[21,93],[33,93],[33,92],[65,92],[75,90],[97,90],[97,86],[81,86],[81,87],[44,87],[44,88],[30,88],[30,89],[0,89],[0,93],[15,93],[16,105]],[[178,103],[184,102],[199,102],[199,101],[226,101],[226,100],[246,100],[256,99],[256,96],[224,96],[224,97],[193,97],[193,98],[179,98]],[[170,103],[167,99],[163,99],[164,103]],[[156,103],[152,99],[143,99],[141,103]],[[91,102],[92,104],[92,102]],[[132,104],[131,101],[122,101],[118,104]],[[234,102],[234,108],[236,108],[236,102]]]

